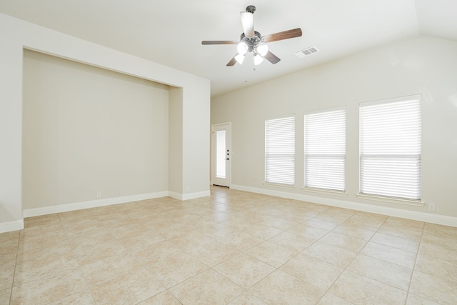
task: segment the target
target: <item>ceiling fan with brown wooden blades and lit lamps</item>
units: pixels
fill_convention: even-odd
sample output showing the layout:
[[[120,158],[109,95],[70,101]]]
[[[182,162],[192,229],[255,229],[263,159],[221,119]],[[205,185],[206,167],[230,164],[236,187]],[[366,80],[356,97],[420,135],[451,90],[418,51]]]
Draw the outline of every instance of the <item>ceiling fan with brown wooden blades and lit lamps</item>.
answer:
[[[261,36],[258,31],[254,31],[254,19],[253,14],[256,11],[256,6],[250,5],[246,7],[246,11],[241,11],[241,25],[243,26],[243,33],[241,33],[240,40],[204,40],[201,44],[236,44],[236,51],[238,53],[233,56],[227,66],[233,66],[237,62],[243,64],[246,53],[252,52],[254,64],[260,64],[263,59],[271,62],[271,64],[277,64],[281,59],[275,54],[268,50],[266,43],[279,41],[284,39],[291,39],[301,36],[301,29],[291,29],[288,31],[281,31],[275,34],[269,34]]]

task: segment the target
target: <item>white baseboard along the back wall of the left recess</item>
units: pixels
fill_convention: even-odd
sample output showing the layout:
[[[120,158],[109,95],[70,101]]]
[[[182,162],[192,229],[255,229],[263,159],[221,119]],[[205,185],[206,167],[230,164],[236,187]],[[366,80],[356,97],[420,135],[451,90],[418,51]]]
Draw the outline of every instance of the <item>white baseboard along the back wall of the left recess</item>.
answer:
[[[81,209],[96,208],[99,206],[110,206],[112,204],[125,204],[126,202],[131,202],[131,201],[154,199],[154,198],[161,198],[161,197],[166,197],[166,196],[169,196],[168,191],[160,191],[157,193],[139,194],[139,195],[133,195],[133,196],[122,196],[122,197],[114,197],[114,198],[107,198],[107,199],[75,202],[73,204],[59,204],[56,206],[44,206],[42,208],[25,209],[23,211],[23,215],[24,215],[24,218],[34,217],[34,216],[48,215],[48,214],[54,214],[54,213],[76,211],[76,210],[81,210]]]

